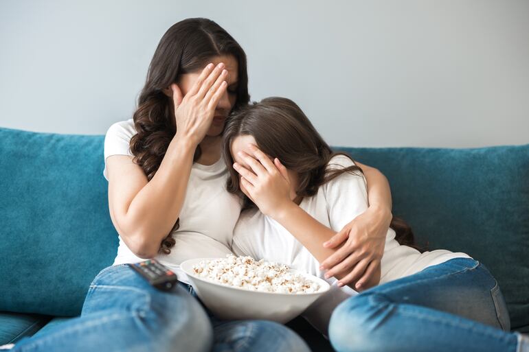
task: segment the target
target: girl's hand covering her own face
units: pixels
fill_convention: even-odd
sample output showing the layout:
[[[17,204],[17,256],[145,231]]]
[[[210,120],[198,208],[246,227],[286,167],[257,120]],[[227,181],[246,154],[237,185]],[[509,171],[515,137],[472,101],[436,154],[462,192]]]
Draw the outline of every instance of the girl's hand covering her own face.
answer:
[[[238,159],[249,168],[234,163],[234,169],[240,174],[240,189],[263,214],[273,218],[278,211],[293,202],[290,197],[291,180],[279,159],[272,161],[253,144],[249,144],[248,149],[252,155],[241,150]]]

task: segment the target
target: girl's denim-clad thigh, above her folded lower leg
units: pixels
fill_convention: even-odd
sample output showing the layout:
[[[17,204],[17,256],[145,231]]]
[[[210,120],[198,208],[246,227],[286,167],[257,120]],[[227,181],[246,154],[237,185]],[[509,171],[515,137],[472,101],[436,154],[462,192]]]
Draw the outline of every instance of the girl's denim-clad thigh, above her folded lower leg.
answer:
[[[366,294],[382,294],[394,303],[429,307],[506,331],[510,329],[497,281],[482,263],[469,258],[450,259],[360,295]]]

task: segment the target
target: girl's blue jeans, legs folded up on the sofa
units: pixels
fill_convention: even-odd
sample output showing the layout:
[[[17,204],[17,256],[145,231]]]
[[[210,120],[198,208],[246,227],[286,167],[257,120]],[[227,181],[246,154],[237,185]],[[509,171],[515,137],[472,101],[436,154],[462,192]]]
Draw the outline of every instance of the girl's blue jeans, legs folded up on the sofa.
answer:
[[[529,351],[508,331],[497,281],[479,261],[455,258],[348,298],[329,339],[338,352]]]

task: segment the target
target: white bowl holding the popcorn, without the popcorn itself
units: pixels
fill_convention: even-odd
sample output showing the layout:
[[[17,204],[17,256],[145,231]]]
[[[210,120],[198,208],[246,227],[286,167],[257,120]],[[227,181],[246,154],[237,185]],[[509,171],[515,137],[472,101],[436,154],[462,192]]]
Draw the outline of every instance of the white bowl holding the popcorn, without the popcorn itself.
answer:
[[[189,259],[181,263],[180,268],[188,275],[193,289],[204,305],[221,319],[267,319],[288,322],[302,314],[319,296],[330,289],[330,285],[325,280],[294,269],[289,269],[289,272],[302,274],[306,279],[316,281],[320,289],[308,294],[283,294],[250,291],[215,283],[197,276],[193,271],[195,264],[211,259],[219,258]]]

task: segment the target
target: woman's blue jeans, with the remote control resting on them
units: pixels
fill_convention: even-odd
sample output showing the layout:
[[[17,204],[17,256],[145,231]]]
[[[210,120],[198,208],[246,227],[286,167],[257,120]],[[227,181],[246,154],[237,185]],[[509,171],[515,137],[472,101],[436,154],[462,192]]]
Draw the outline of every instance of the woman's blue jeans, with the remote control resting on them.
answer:
[[[126,264],[93,279],[81,315],[41,336],[23,338],[19,351],[227,352],[310,349],[284,325],[268,320],[219,320],[181,283],[153,288]]]

